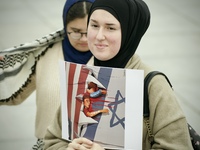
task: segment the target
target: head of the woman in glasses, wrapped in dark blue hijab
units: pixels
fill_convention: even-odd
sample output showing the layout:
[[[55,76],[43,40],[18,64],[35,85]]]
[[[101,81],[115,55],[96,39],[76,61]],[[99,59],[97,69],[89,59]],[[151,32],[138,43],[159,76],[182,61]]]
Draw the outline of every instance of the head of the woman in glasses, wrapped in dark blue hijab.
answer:
[[[80,1],[80,0],[79,0]],[[89,0],[77,3],[77,0],[67,0],[63,10],[63,25],[65,36],[62,41],[63,54],[66,61],[86,64],[92,54],[87,44],[87,11]],[[74,3],[76,2],[76,5]],[[69,10],[70,9],[70,10]],[[85,9],[85,10],[84,10]],[[77,16],[79,17],[77,19]]]

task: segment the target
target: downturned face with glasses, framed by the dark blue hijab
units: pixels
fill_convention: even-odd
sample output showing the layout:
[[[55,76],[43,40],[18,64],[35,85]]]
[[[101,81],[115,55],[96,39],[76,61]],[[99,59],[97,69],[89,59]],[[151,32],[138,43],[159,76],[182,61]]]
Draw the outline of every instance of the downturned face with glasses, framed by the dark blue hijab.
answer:
[[[66,31],[68,33],[71,32],[80,32],[86,33],[87,32],[87,16],[85,18],[77,18],[68,23]],[[89,50],[87,37],[86,34],[82,34],[80,39],[74,39],[70,34],[67,34],[69,42],[71,45],[80,52],[86,52]]]

